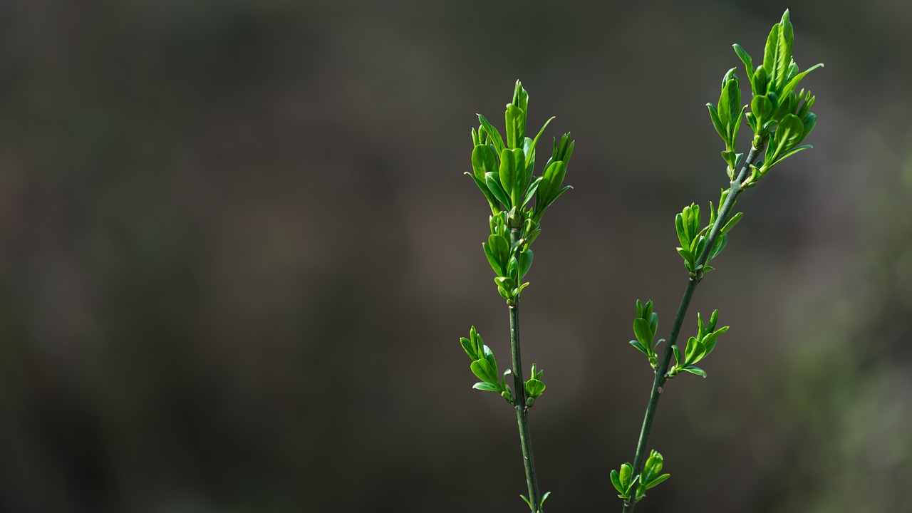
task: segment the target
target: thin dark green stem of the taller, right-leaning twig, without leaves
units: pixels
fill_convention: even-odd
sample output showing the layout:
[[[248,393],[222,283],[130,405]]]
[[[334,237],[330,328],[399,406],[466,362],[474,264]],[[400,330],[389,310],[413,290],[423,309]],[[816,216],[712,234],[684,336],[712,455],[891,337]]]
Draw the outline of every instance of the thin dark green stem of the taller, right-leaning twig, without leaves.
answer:
[[[709,260],[710,250],[715,244],[716,239],[719,237],[722,226],[724,226],[729,219],[729,215],[731,214],[731,207],[734,206],[735,200],[738,199],[738,195],[741,194],[741,184],[744,183],[744,180],[747,178],[748,173],[750,173],[751,163],[753,163],[761,151],[762,144],[760,148],[751,146],[751,152],[748,153],[747,159],[744,161],[744,165],[741,166],[741,173],[738,173],[738,176],[735,178],[735,180],[731,182],[729,195],[725,198],[725,203],[721,205],[719,215],[716,216],[716,223],[712,225],[710,228],[710,234],[706,238],[706,246],[703,249],[703,252],[700,254],[700,257],[697,259],[697,268],[705,266],[706,261]],[[690,278],[687,284],[687,288],[684,290],[684,297],[681,298],[681,302],[678,307],[678,313],[675,315],[674,323],[671,325],[671,332],[668,335],[668,343],[665,346],[665,351],[662,352],[662,359],[658,362],[658,367],[656,368],[656,378],[652,382],[652,393],[649,395],[649,403],[646,407],[646,416],[643,419],[643,427],[639,432],[637,455],[633,460],[634,476],[639,476],[643,473],[643,466],[646,464],[646,447],[649,441],[649,433],[652,431],[652,421],[655,419],[656,411],[658,410],[658,398],[662,393],[662,385],[668,381],[668,364],[671,361],[671,355],[674,352],[672,348],[678,342],[678,335],[681,330],[681,325],[684,323],[684,318],[687,316],[687,309],[690,306],[690,298],[693,298],[693,293],[697,289],[697,285],[700,283],[702,275],[702,271],[698,271],[696,277]],[[636,495],[637,494],[635,487],[633,497],[630,497],[630,500],[625,501],[624,503],[624,513],[633,513],[633,508],[637,504]]]

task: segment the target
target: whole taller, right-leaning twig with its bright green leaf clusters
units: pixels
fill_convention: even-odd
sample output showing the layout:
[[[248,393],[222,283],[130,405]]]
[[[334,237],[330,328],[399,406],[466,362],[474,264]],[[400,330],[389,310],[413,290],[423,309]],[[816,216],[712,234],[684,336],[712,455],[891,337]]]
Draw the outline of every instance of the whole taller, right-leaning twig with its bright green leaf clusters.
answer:
[[[663,385],[680,372],[690,372],[705,378],[706,372],[696,364],[710,355],[720,335],[729,330],[728,326],[716,329],[719,310],[712,312],[709,322],[704,322],[698,314],[697,335],[688,339],[683,354],[677,344],[680,327],[694,289],[702,277],[713,270],[713,267],[707,264],[719,256],[728,244],[729,232],[743,217],[741,213],[731,215],[738,195],[755,186],[775,164],[810,148],[801,143],[814,130],[816,124],[816,116],[810,111],[814,106],[814,96],[804,89],[796,93],[795,88],[810,71],[823,65],[818,64],[799,72],[792,57],[793,42],[792,22],[789,12],[785,11],[782,21],[772,27],[767,37],[762,64],[754,68],[751,55],[740,45],[734,45],[735,53],[744,63],[751,84],[750,111],[745,114],[748,105],[741,103],[741,86],[734,68],[729,69],[722,78],[719,102],[716,105],[707,104],[712,126],[725,144],[725,150],[721,154],[722,160],[726,163],[726,173],[731,186],[727,190],[722,190],[718,208],[710,202],[708,225],[702,224],[698,204],[691,203],[675,216],[675,232],[680,244],[677,251],[684,260],[684,267],[687,268],[689,284],[681,299],[678,314],[672,322],[668,345],[661,356],[658,355],[656,347],[662,340],[653,345],[658,316],[652,312],[651,302],[647,302],[646,307],[643,307],[637,301],[637,319],[634,319],[633,325],[637,340],[631,340],[630,344],[648,357],[656,376],[634,463],[626,463],[619,471],[611,471],[611,482],[617,489],[618,497],[624,499],[625,513],[633,511],[637,501],[646,497],[649,488],[668,478],[668,474],[660,474],[662,456],[656,451],[646,456],[649,430],[656,415]],[[743,153],[737,152],[738,132],[742,119],[747,121],[753,131],[751,152],[746,157]],[[758,160],[761,153],[765,162]],[[672,355],[675,358],[674,365],[670,363]],[[636,493],[633,492],[634,485],[637,485]]]

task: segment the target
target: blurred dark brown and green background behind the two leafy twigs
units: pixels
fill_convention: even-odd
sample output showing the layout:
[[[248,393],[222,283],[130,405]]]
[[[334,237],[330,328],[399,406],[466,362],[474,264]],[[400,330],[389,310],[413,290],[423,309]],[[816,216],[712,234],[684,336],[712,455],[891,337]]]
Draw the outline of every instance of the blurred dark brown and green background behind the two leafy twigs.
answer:
[[[506,366],[462,173],[517,78],[576,139],[523,293],[540,482],[619,511],[634,301],[667,336],[674,215],[728,183],[704,104],[785,7],[816,148],[741,196],[637,511],[912,511],[904,0],[0,1],[0,511],[524,511],[459,345]]]

